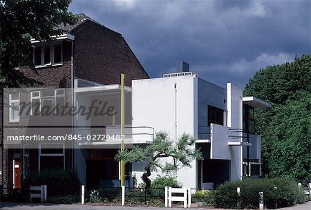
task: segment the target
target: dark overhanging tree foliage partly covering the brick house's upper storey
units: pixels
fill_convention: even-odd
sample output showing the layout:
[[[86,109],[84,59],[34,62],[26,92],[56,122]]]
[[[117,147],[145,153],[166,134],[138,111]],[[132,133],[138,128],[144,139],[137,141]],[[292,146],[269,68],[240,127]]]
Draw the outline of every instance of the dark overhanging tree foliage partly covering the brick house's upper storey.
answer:
[[[17,62],[29,64],[32,44],[30,39],[52,41],[51,36],[62,35],[59,24],[73,24],[75,16],[68,12],[71,0],[0,0],[0,84],[17,87],[20,84],[32,84],[16,70]]]

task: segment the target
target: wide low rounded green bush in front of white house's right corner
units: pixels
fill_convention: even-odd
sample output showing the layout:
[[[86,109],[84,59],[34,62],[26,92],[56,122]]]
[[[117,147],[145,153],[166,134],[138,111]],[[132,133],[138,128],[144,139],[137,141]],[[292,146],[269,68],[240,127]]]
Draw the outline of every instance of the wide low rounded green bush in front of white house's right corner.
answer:
[[[241,187],[238,195],[236,188]],[[220,184],[215,193],[215,206],[228,209],[258,208],[259,192],[263,192],[267,208],[288,207],[301,199],[301,191],[294,180],[286,178],[247,178]]]

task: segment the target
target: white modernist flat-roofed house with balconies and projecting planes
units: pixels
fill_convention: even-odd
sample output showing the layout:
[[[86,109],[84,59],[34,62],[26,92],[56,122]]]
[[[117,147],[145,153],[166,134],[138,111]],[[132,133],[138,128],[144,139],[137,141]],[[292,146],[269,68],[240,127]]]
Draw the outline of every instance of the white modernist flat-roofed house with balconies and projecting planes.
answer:
[[[106,92],[97,93],[99,90]],[[115,94],[117,98],[120,86],[84,87],[76,92],[77,102],[87,106],[92,97],[100,94]],[[191,168],[178,171],[183,187],[213,189],[225,181],[261,175],[261,137],[254,134],[254,108],[269,108],[270,104],[256,97],[243,97],[243,90],[234,84],[227,83],[223,88],[191,72],[133,80],[126,93],[131,96],[126,117],[126,133],[131,135],[126,140],[145,146],[157,131],[167,131],[173,141],[182,133],[197,139],[196,148],[201,149],[204,160],[195,160]],[[117,119],[115,115],[115,119],[105,120],[104,133],[115,133]],[[78,116],[76,132],[91,133],[84,126],[93,122],[96,120]],[[119,147],[112,144],[115,142],[79,142],[75,164],[82,183],[89,187],[120,183],[118,163],[113,160]],[[146,162],[128,164],[126,173],[142,182]],[[151,180],[156,175],[152,173]],[[126,181],[131,183],[130,179]]]

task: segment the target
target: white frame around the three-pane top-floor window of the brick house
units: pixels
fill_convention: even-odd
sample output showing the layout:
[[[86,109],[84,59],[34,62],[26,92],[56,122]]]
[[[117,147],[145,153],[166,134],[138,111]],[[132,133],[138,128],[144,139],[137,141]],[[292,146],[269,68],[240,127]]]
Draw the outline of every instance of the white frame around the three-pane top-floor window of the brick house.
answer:
[[[60,45],[61,46],[61,58],[62,61],[60,61],[59,63],[55,63],[54,62],[54,57],[55,57],[55,50],[54,47]],[[50,63],[48,64],[44,64],[44,57],[45,57],[45,52],[44,52],[44,48],[46,46],[50,46]],[[36,65],[35,64],[35,49],[36,48],[41,48],[41,64]],[[40,67],[46,67],[46,66],[59,66],[63,64],[63,43],[55,43],[55,44],[50,44],[50,45],[41,45],[41,46],[35,46],[35,48],[32,49],[32,62],[33,64],[35,64],[36,68],[40,68]]]

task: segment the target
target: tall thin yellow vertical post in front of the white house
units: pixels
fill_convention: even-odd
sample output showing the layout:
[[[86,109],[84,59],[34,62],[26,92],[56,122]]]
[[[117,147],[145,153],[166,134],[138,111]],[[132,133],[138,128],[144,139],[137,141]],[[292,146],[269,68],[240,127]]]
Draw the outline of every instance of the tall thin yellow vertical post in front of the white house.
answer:
[[[124,151],[124,78],[125,75],[121,74],[121,150]],[[121,175],[121,187],[124,186],[124,174],[125,174],[125,167],[124,167],[124,160],[121,160],[120,166],[120,175]]]

